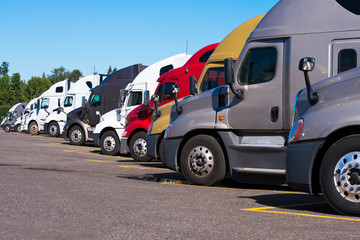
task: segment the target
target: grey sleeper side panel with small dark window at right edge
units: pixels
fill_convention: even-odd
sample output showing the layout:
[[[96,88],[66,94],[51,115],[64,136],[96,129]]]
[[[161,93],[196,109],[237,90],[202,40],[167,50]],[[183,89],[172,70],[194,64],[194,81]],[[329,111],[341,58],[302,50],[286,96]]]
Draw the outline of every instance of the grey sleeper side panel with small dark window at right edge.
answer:
[[[347,39],[333,41],[331,46],[332,69],[331,76],[359,67],[360,40]]]

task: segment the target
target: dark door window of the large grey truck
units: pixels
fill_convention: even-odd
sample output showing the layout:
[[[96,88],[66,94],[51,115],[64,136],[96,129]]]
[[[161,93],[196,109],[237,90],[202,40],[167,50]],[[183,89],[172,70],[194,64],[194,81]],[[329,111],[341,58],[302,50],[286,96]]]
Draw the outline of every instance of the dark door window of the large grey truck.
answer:
[[[240,84],[257,84],[275,77],[277,51],[273,47],[251,49],[241,66]]]

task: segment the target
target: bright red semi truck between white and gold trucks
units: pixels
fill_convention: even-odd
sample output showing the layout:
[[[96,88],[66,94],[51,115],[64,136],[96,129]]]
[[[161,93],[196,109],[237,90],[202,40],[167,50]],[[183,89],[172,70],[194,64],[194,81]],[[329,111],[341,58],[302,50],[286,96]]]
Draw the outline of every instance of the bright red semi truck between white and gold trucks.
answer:
[[[214,52],[218,43],[208,45],[197,51],[182,67],[176,68],[169,73],[165,73],[158,79],[159,85],[155,90],[152,99],[155,100],[157,107],[174,101],[172,86],[178,85],[180,91],[178,97],[183,98],[190,94],[190,76],[199,76],[204,68],[205,63]],[[146,134],[151,125],[153,107],[150,108],[150,102],[142,104],[126,117],[126,128],[120,140],[120,153],[130,153],[135,161],[150,161],[153,157],[147,154]],[[156,116],[161,112],[155,111]]]

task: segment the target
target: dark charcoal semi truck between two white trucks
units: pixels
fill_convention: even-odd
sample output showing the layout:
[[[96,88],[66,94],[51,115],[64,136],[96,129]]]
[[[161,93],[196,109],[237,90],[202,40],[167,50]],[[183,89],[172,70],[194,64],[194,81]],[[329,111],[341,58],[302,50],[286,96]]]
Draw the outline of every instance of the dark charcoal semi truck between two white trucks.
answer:
[[[103,115],[118,106],[119,92],[132,82],[147,66],[135,64],[122,68],[105,78],[91,90],[89,101],[67,114],[62,137],[72,145],[93,141],[95,125]]]

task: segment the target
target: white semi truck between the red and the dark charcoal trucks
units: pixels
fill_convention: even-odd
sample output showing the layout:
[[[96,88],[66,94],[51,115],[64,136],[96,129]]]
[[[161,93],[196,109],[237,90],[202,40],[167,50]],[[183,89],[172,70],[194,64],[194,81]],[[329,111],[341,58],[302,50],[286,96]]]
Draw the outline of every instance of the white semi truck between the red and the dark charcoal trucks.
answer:
[[[149,66],[122,91],[121,107],[101,117],[94,130],[94,144],[101,147],[105,154],[116,155],[120,152],[120,138],[126,125],[126,116],[144,102],[146,91],[153,94],[158,87],[160,76],[182,66],[191,56],[185,53],[163,59]]]

